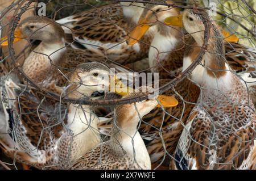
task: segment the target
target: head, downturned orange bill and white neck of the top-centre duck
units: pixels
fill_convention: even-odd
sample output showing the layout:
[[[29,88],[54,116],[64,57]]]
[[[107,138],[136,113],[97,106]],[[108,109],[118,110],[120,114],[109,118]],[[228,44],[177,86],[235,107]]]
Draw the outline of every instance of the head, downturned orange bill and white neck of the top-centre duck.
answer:
[[[166,1],[171,4],[172,1]],[[182,67],[184,43],[180,38],[180,27],[169,27],[163,22],[168,16],[179,15],[180,11],[174,7],[163,5],[147,4],[143,10],[138,26],[130,32],[130,39],[127,44],[137,43],[144,33],[150,28],[156,27],[154,39],[150,44],[148,52],[148,64],[152,73],[159,73],[159,77],[174,78],[176,70]],[[172,61],[169,61],[172,58]]]

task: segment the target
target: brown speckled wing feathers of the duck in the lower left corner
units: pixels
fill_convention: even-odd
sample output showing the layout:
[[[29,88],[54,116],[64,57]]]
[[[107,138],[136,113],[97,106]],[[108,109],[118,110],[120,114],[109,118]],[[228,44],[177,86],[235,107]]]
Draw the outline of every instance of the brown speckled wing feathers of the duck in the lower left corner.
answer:
[[[9,113],[9,131],[10,140],[16,142],[18,151],[15,153],[12,146],[9,148],[7,143],[2,143],[5,145],[3,150],[16,161],[40,167],[40,164],[37,163],[37,151],[49,150],[47,151],[47,162],[49,161],[55,154],[53,146],[60,138],[64,129],[63,124],[67,123],[67,118],[61,123],[59,101],[42,91],[26,86],[10,86],[8,89],[13,89],[13,93],[16,94],[16,99],[9,100],[9,105],[13,105],[9,108],[12,110]],[[4,102],[7,101],[7,98],[4,99]],[[67,105],[62,103],[60,107],[61,111],[64,111]],[[64,117],[64,112],[61,112],[61,115]]]

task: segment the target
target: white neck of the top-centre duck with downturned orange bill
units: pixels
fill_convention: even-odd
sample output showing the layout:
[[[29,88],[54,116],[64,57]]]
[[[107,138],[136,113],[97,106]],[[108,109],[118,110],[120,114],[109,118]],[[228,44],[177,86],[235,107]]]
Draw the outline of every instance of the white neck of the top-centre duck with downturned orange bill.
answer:
[[[150,67],[154,67],[159,62],[165,60],[170,51],[177,49],[177,44],[180,43],[180,28],[168,27],[162,23],[158,25],[158,32],[155,33],[154,39],[152,40],[151,47],[148,53],[148,63]],[[159,52],[168,52],[160,53]],[[151,71],[154,72],[154,69]]]

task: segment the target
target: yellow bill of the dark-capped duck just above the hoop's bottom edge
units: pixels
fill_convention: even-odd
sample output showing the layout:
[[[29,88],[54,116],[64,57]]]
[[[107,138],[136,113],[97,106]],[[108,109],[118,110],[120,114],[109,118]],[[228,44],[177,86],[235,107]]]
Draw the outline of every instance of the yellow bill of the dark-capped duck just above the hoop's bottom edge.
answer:
[[[126,86],[119,78],[114,76],[110,79],[109,91],[117,95],[126,96],[129,92],[133,92],[133,88]]]

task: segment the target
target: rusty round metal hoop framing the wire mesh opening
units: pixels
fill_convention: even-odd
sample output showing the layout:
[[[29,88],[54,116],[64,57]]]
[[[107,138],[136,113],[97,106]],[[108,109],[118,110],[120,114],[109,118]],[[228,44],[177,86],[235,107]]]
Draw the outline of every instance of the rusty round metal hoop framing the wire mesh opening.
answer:
[[[20,1],[22,2],[22,1]],[[31,5],[33,1],[28,1],[23,7],[20,7],[20,12],[12,19],[11,23],[10,23],[10,34],[8,36],[8,43],[9,43],[9,52],[10,52],[10,57],[11,60],[13,61],[13,64],[15,65],[16,62],[16,58],[15,58],[15,51],[13,48],[13,41],[14,41],[14,31],[16,29],[16,27],[18,26],[18,22],[20,20],[20,17],[22,16],[22,14],[28,9],[28,7]],[[184,7],[184,6],[176,6],[176,5],[168,5],[168,6],[174,6],[174,7]],[[191,8],[192,7],[187,7],[187,8]],[[204,21],[205,24],[205,33],[204,33],[204,47],[206,47],[207,45],[207,41],[209,39],[209,31],[208,31],[208,27],[209,24],[207,22],[207,20]],[[171,87],[177,85],[177,83],[179,83],[180,81],[182,81],[193,69],[195,69],[196,65],[198,64],[198,62],[200,62],[204,56],[204,52],[205,49],[201,49],[199,56],[197,56],[195,62],[193,62],[193,64],[191,64],[187,70],[183,71],[183,73],[181,73],[179,76],[177,76],[177,78],[172,79],[172,81],[170,81],[167,85],[164,85],[162,87],[159,88],[159,93],[162,94],[163,92],[169,90]],[[18,71],[18,73],[20,75],[22,75],[22,77],[24,77],[24,79],[30,83],[30,85],[36,87],[36,89],[42,90],[47,92],[47,94],[52,95],[53,98],[59,99],[60,96],[55,94],[54,92],[50,92],[46,89],[44,89],[43,87],[38,86],[34,81],[32,81],[32,79],[30,77],[28,77],[23,70],[20,68],[20,66],[15,66],[16,70]],[[90,100],[89,98],[84,98],[84,99],[71,99],[71,98],[64,98],[64,101],[67,102],[71,102],[71,103],[77,103],[79,102],[80,104],[87,104],[87,105],[91,105],[91,106],[110,106],[110,105],[116,105],[116,104],[126,104],[126,103],[134,103],[134,102],[139,102],[142,100],[146,100],[148,99],[148,94],[146,93],[145,95],[141,96],[134,96],[134,98],[121,98],[121,99],[115,99],[115,100]]]

